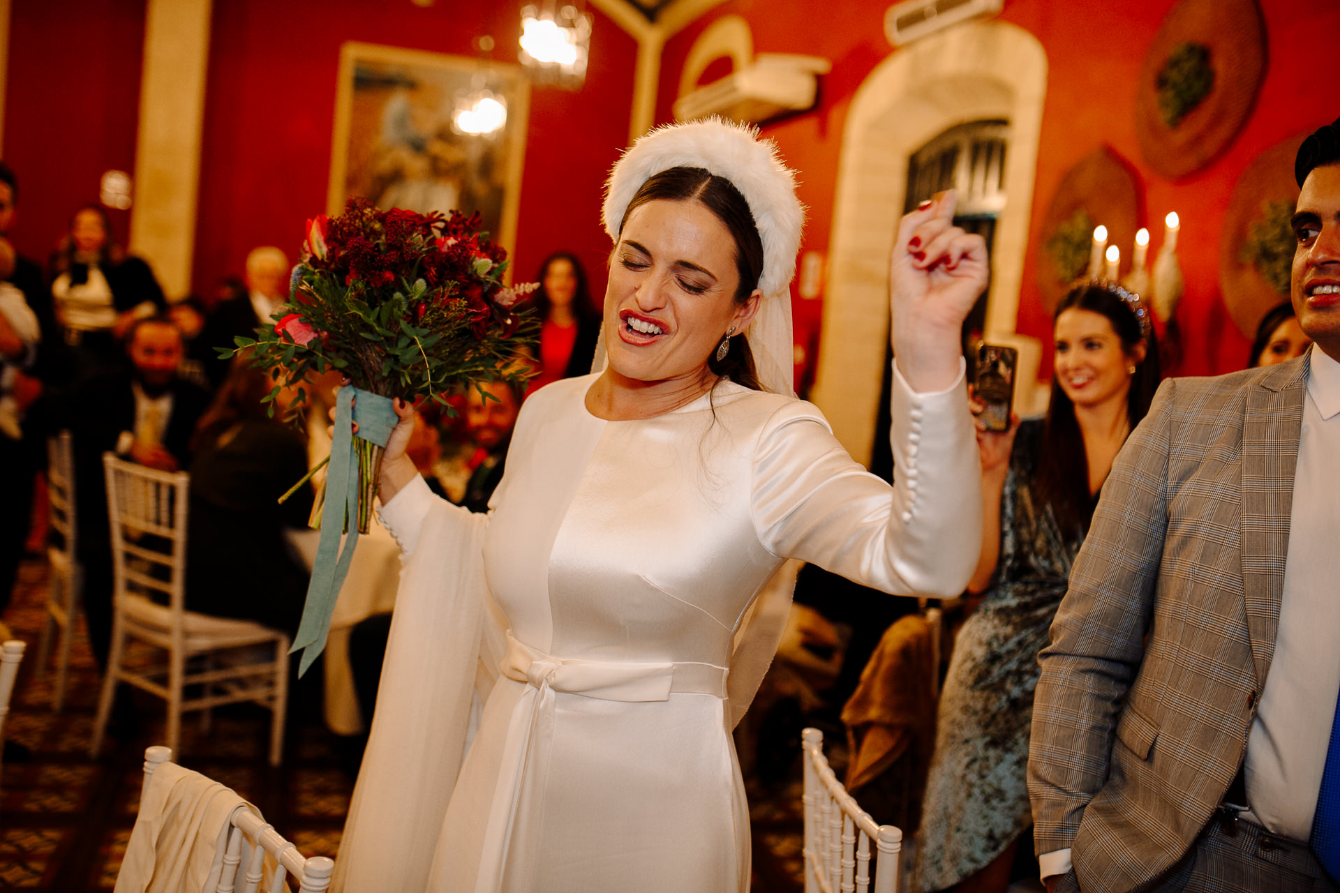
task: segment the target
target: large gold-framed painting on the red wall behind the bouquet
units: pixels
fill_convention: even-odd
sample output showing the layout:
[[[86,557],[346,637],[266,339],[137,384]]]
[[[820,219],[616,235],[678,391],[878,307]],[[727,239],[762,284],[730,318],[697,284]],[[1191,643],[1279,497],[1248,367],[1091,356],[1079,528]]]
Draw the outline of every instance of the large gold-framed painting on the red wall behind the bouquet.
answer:
[[[326,206],[478,212],[511,253],[531,98],[519,66],[398,47],[340,47]]]

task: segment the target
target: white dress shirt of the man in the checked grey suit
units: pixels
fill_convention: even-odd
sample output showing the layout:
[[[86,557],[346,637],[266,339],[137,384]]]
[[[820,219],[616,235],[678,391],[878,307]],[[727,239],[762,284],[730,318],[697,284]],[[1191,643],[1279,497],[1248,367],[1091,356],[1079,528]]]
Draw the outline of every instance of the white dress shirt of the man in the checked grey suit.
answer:
[[[1274,657],[1248,736],[1244,818],[1306,841],[1340,696],[1340,363],[1312,347],[1293,473]],[[1043,877],[1071,870],[1071,850],[1038,857]]]

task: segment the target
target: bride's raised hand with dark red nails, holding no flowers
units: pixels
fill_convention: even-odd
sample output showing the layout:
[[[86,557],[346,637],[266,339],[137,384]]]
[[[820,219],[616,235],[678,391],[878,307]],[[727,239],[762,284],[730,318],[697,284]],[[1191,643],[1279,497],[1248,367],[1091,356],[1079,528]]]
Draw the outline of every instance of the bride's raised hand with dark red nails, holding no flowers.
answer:
[[[986,288],[981,236],[954,226],[953,189],[922,202],[898,226],[890,264],[891,339],[914,391],[942,391],[958,378],[963,320]]]

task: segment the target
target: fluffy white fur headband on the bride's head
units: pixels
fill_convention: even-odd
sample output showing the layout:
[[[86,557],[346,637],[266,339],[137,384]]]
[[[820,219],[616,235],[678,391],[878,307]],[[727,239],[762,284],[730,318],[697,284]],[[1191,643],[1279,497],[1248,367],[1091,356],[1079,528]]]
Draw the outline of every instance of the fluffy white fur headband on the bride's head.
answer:
[[[619,241],[623,214],[642,183],[671,167],[704,167],[740,190],[762,240],[758,289],[764,297],[785,293],[796,274],[805,209],[796,199],[796,177],[781,163],[776,143],[760,139],[757,127],[720,118],[657,127],[632,143],[610,171],[600,216],[612,241]]]

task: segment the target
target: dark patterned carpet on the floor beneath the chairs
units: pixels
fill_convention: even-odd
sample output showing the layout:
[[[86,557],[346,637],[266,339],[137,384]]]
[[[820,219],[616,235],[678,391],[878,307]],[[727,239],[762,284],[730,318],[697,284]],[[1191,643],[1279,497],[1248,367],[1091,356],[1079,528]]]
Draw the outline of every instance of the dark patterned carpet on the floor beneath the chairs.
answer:
[[[51,711],[54,673],[36,673],[46,576],[44,562],[25,562],[4,615],[15,637],[28,643],[4,738],[27,747],[29,758],[0,771],[0,893],[111,890],[135,821],[145,747],[163,739],[162,703],[137,698],[137,719],[109,731],[100,758],[88,758],[98,673],[83,629],[62,714]],[[338,857],[354,789],[351,746],[326,731],[311,708],[297,712],[277,770],[265,762],[269,714],[251,706],[216,711],[210,735],[188,716],[178,762],[233,787],[306,856]],[[777,782],[749,782],[754,890],[803,888],[800,794],[799,755]]]

